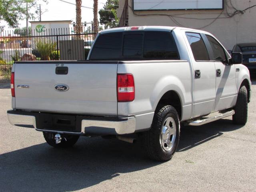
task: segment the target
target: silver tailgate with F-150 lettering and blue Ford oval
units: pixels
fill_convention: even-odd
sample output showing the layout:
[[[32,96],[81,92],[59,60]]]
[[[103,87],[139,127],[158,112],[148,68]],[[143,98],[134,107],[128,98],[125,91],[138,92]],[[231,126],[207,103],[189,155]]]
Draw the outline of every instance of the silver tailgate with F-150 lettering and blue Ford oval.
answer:
[[[96,61],[17,62],[14,66],[15,108],[117,115],[117,65],[118,62]],[[68,74],[56,74],[57,67],[68,67]],[[68,90],[56,90],[61,84]]]

